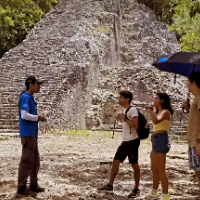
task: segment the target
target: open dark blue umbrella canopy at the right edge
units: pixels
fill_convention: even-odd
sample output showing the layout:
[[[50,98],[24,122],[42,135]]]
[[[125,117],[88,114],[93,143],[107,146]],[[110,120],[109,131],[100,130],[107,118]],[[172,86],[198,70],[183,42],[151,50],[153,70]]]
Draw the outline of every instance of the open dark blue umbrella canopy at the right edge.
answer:
[[[200,52],[177,52],[162,56],[152,64],[161,71],[189,76],[200,71]]]

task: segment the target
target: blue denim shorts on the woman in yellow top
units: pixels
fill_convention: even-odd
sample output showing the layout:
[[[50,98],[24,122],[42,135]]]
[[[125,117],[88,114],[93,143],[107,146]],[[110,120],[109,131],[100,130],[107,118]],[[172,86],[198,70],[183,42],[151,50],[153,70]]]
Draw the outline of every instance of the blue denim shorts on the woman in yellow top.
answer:
[[[171,144],[167,133],[157,133],[151,136],[152,149],[156,153],[168,153]]]

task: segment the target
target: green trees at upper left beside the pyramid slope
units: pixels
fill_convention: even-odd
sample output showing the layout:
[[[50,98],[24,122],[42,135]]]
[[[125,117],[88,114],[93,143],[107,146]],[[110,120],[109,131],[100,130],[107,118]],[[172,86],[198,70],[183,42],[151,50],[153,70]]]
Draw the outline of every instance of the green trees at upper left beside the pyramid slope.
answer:
[[[57,0],[4,0],[0,3],[0,57],[21,43]]]

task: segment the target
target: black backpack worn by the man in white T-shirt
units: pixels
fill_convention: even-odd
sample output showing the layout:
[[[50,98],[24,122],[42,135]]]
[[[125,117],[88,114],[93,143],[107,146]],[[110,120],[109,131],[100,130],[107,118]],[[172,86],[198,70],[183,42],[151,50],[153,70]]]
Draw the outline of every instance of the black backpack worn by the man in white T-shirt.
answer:
[[[130,106],[125,112],[127,119],[128,119],[127,113],[132,107],[133,106]],[[144,139],[147,139],[149,137],[150,127],[149,127],[149,124],[148,124],[145,116],[138,109],[137,109],[137,111],[138,111],[138,130],[137,130],[137,133],[138,133],[139,138],[141,140],[144,140]],[[131,127],[130,127],[130,134],[131,134]]]

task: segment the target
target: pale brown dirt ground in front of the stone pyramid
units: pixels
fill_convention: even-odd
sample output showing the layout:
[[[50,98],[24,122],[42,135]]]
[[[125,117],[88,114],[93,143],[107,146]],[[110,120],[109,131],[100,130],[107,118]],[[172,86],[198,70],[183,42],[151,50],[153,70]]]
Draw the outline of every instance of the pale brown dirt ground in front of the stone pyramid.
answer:
[[[126,160],[120,166],[114,185],[114,195],[98,193],[96,188],[107,181],[115,151],[121,142],[120,133],[114,139],[112,133],[39,136],[41,168],[39,183],[46,188],[37,199],[57,200],[125,200],[133,189],[132,168]],[[189,170],[187,144],[172,142],[167,157],[171,199],[198,199],[199,188],[193,171]],[[140,145],[141,196],[152,187],[150,170],[151,143]],[[20,139],[17,136],[0,136],[0,199],[15,199],[17,172],[21,156]],[[161,192],[161,189],[159,189]],[[160,193],[161,194],[161,193]],[[26,198],[27,200],[32,198]]]

